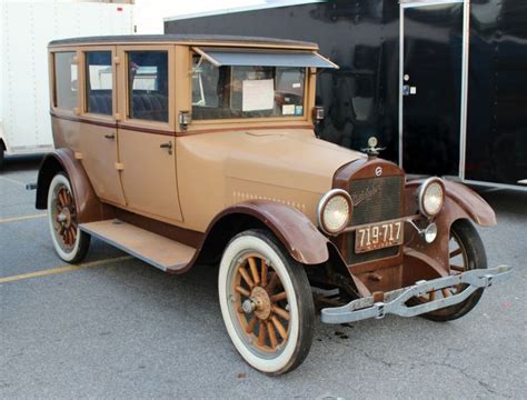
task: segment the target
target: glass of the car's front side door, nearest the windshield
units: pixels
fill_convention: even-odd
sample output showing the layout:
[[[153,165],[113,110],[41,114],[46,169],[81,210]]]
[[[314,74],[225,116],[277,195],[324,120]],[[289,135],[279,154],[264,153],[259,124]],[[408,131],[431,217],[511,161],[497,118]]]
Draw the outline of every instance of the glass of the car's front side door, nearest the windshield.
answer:
[[[167,51],[128,52],[129,118],[168,122]]]

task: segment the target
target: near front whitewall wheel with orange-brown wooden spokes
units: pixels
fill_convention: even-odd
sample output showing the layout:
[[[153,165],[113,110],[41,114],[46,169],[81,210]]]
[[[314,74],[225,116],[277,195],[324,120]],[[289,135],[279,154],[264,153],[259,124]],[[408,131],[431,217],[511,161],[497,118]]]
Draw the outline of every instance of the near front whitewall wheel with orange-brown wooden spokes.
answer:
[[[304,266],[272,234],[236,236],[221,258],[218,289],[227,331],[251,367],[281,374],[304,361],[314,333],[311,289]]]

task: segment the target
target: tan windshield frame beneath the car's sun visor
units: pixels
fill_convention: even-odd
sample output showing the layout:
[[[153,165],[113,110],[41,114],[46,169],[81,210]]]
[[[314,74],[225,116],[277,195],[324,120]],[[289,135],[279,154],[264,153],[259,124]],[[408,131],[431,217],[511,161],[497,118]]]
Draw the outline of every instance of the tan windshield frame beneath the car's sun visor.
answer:
[[[237,48],[238,49],[238,48]],[[251,49],[252,50],[252,49]],[[268,51],[269,49],[261,49],[262,51]],[[190,97],[190,104],[189,104],[189,110],[192,110],[192,58],[193,54],[201,56],[199,52],[197,52],[192,47],[189,47],[188,50],[188,68],[189,68],[189,97]],[[207,58],[203,58],[205,61],[210,62]],[[232,66],[229,66],[232,68]],[[236,66],[235,66],[236,67]],[[195,127],[202,127],[202,126],[211,126],[211,124],[240,124],[240,123],[261,123],[261,122],[311,122],[311,109],[310,109],[310,103],[311,103],[311,97],[314,97],[314,80],[311,79],[311,74],[315,74],[312,71],[312,68],[306,67],[305,68],[306,73],[304,74],[304,114],[302,116],[276,116],[276,117],[251,117],[251,118],[226,118],[226,119],[207,119],[207,120],[195,120],[192,119],[191,126]]]

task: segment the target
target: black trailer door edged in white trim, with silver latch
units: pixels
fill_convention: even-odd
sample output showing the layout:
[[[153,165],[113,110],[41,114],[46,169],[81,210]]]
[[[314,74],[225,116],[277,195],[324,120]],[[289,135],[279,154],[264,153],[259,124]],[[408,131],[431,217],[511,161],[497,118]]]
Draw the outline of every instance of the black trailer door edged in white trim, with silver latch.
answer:
[[[408,173],[459,177],[468,46],[465,3],[400,7],[399,163]]]

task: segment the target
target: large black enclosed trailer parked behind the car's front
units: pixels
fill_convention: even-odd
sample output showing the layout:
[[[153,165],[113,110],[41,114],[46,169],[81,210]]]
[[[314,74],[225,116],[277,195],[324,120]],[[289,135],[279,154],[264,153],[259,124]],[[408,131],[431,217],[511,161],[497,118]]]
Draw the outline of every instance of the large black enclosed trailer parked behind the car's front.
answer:
[[[318,133],[376,136],[408,173],[527,188],[527,1],[272,1],[165,20],[166,33],[308,40],[322,71]]]

